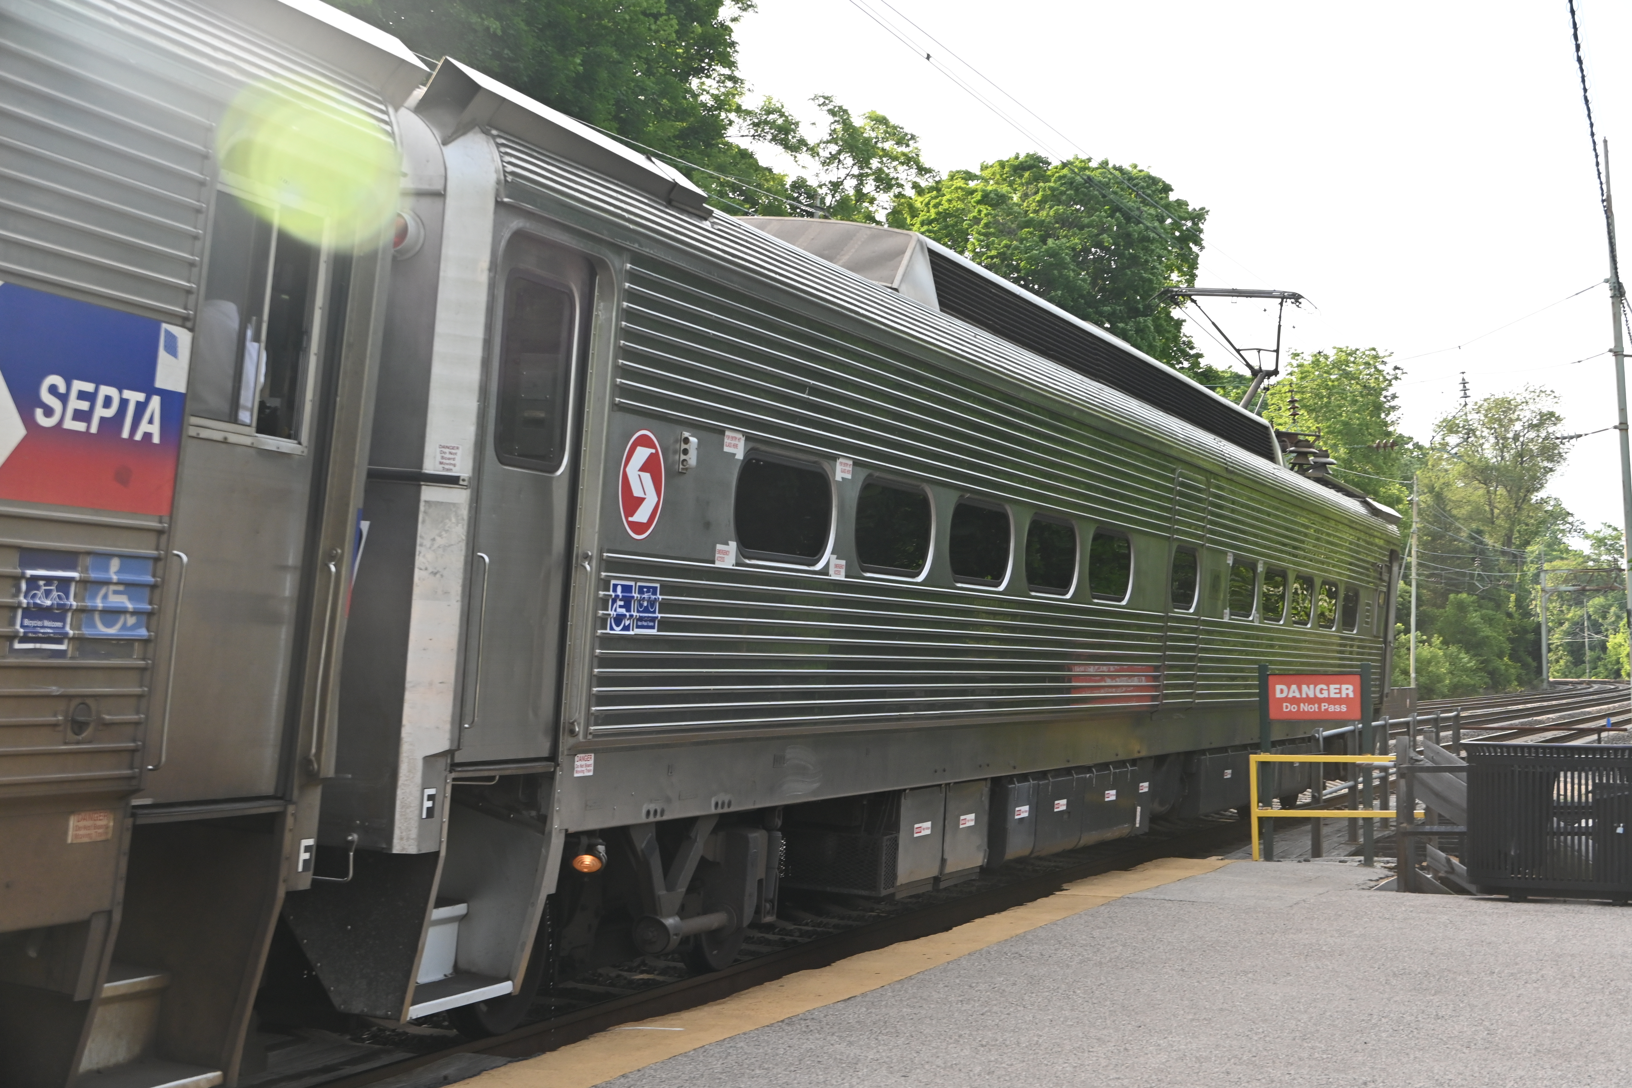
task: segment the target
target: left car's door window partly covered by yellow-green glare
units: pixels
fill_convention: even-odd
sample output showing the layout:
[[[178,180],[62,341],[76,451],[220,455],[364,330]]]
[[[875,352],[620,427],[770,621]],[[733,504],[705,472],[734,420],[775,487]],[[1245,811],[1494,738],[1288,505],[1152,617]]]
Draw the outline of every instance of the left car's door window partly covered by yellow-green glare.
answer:
[[[323,225],[302,212],[215,196],[209,282],[193,341],[189,411],[300,439]]]

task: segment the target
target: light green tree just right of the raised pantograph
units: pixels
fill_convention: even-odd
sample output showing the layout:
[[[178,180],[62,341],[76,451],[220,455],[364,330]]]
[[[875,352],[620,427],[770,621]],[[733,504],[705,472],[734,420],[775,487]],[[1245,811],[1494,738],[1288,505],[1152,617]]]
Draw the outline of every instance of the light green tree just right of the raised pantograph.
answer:
[[[1404,374],[1376,347],[1294,351],[1286,375],[1268,388],[1263,416],[1283,431],[1319,434],[1343,483],[1405,509],[1410,484],[1400,481],[1410,478],[1418,450],[1399,432],[1395,385]],[[1397,445],[1374,449],[1382,442]]]

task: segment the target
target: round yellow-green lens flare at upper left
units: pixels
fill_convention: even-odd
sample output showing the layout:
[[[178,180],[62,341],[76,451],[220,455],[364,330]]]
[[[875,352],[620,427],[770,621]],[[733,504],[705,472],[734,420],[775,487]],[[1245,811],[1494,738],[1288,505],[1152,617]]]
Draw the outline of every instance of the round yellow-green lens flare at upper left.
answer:
[[[215,135],[228,181],[290,215],[281,227],[313,245],[328,230],[361,245],[375,243],[397,215],[397,148],[385,130],[338,90],[261,82],[228,106]]]

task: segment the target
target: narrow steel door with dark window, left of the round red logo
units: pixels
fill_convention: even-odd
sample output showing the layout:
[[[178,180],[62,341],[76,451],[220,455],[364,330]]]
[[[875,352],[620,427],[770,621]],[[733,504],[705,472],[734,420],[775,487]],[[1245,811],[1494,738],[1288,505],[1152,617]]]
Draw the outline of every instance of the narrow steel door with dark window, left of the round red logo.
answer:
[[[517,235],[494,290],[486,434],[472,458],[459,763],[555,750],[594,271],[579,253]]]

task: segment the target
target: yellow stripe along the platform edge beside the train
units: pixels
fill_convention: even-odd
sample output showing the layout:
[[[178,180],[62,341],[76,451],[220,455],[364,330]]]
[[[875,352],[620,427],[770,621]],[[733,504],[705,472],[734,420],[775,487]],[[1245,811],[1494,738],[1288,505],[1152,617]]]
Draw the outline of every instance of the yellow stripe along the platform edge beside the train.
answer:
[[[710,1042],[909,979],[1123,896],[1213,873],[1226,865],[1231,863],[1222,858],[1160,858],[1133,869],[1072,881],[1053,896],[965,922],[945,933],[901,941],[826,967],[798,971],[682,1013],[622,1024],[560,1050],[501,1065],[463,1083],[472,1088],[604,1085],[623,1073],[633,1073]]]

